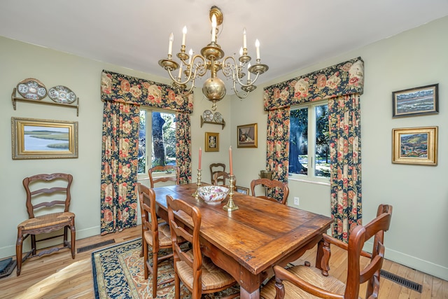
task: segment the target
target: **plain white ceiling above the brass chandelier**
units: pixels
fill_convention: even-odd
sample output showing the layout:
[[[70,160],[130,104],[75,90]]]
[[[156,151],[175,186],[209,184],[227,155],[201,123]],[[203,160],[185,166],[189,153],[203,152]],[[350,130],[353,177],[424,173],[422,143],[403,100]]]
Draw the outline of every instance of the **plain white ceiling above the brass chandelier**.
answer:
[[[199,53],[214,5],[226,55],[239,53],[243,27],[253,60],[260,40],[269,71],[258,84],[448,15],[448,0],[1,0],[0,36],[167,77],[169,34],[177,53],[186,25]]]

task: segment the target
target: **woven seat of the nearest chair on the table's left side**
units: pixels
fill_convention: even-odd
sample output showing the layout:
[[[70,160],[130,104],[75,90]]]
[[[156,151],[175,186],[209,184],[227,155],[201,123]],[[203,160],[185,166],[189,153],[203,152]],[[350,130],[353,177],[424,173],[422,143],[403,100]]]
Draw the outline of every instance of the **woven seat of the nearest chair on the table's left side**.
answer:
[[[187,252],[193,259],[193,250]],[[193,269],[184,261],[176,263],[179,277],[189,288],[193,288]],[[202,257],[202,290],[208,291],[224,288],[235,284],[235,279],[220,267],[216,266],[207,256]]]

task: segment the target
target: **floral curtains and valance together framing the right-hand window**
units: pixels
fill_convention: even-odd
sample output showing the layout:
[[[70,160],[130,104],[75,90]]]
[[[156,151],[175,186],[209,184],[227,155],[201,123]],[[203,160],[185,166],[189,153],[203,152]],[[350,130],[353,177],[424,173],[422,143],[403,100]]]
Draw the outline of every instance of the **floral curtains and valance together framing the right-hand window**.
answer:
[[[333,146],[337,146],[337,149],[333,149],[335,159],[331,160],[330,165],[331,209],[332,218],[334,218],[333,235],[345,240],[348,239],[349,231],[360,223],[362,216],[359,95],[363,94],[363,87],[364,62],[360,57],[357,57],[311,74],[268,86],[265,88],[264,93],[265,110],[269,111],[267,120],[268,134],[272,132],[272,128],[278,127],[276,123],[283,122],[283,120],[285,126],[281,127],[281,130],[289,132],[289,119],[285,118],[281,112],[274,113],[272,111],[284,109],[294,104],[328,99],[329,123],[332,124],[332,127],[330,127],[331,142]],[[341,101],[341,98],[344,100]],[[281,120],[276,120],[276,117],[281,117]],[[340,123],[341,121],[342,123]],[[356,126],[356,129],[353,128],[350,132],[340,134],[336,130],[336,127],[339,128],[340,125],[343,125],[344,130],[348,129],[346,125]],[[270,137],[268,137],[267,167],[272,169],[274,177],[283,176],[287,180],[288,135],[270,134],[269,136],[272,136],[272,138],[269,140]],[[269,142],[271,145],[269,145]],[[356,146],[353,146],[353,142],[356,142]],[[347,145],[347,148],[342,148],[343,145]],[[349,146],[356,148],[353,153],[353,155],[356,155],[356,159],[350,159],[346,156],[349,155],[349,153],[345,152],[349,151]],[[279,158],[279,162],[274,164],[276,168],[273,168],[270,167],[271,162],[269,159],[276,155],[277,147],[284,148],[285,152],[283,157]],[[339,161],[337,155],[342,153],[345,158]],[[282,159],[283,162],[281,162]],[[341,174],[341,176],[338,176],[338,174]],[[342,178],[342,181],[339,178]],[[341,184],[347,187],[343,188],[340,186]],[[351,199],[350,202],[349,199]],[[338,204],[341,204],[341,207]],[[341,233],[339,234],[339,232]],[[345,235],[344,232],[346,232]]]

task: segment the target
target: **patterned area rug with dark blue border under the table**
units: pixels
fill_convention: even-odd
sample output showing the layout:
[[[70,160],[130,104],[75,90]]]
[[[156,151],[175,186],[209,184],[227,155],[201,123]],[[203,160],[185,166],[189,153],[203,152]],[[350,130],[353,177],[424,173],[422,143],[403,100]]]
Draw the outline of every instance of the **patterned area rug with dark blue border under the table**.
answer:
[[[144,279],[144,258],[140,257],[141,239],[134,239],[92,253],[94,293],[96,299],[152,298],[152,276]],[[167,253],[169,251],[166,251]],[[172,260],[159,265],[159,280],[174,277]],[[190,291],[181,284],[181,298],[190,299]],[[237,293],[237,287],[205,296],[216,299]],[[158,287],[157,298],[174,298],[174,283]]]

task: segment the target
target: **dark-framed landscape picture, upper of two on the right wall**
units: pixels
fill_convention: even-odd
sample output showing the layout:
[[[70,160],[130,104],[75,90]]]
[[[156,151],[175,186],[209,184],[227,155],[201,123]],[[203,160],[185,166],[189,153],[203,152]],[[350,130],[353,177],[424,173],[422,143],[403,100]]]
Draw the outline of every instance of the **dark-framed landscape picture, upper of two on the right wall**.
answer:
[[[438,84],[392,92],[393,118],[439,112]]]

